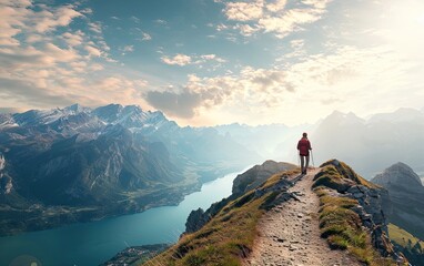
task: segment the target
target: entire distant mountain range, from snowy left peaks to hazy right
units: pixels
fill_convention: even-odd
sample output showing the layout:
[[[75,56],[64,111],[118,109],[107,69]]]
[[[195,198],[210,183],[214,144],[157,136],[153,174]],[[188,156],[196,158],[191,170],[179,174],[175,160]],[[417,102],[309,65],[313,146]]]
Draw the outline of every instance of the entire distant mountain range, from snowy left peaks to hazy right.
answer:
[[[339,157],[367,178],[397,161],[424,172],[423,110],[209,127],[182,127],[160,111],[120,104],[0,114],[0,235],[176,204],[259,160],[296,163],[302,132],[312,142],[311,163]]]

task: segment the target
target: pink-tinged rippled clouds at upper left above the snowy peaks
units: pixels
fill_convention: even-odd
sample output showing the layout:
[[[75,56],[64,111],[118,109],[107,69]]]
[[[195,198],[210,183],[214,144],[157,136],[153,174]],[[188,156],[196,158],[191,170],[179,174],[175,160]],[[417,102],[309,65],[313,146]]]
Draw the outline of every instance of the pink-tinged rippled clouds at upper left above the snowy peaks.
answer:
[[[102,25],[90,13],[70,4],[0,1],[0,106],[100,105],[110,99],[144,104],[148,82],[113,74],[104,62],[113,59]],[[80,30],[72,31],[75,20]]]

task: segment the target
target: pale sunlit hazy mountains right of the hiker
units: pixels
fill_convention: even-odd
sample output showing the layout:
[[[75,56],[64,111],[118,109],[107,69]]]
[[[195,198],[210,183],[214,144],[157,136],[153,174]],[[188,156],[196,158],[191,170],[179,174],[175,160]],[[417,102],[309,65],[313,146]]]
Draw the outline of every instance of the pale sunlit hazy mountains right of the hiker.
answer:
[[[369,120],[334,112],[319,123],[310,139],[315,161],[337,157],[371,178],[397,161],[423,171],[423,132],[424,114],[417,110],[401,109]]]

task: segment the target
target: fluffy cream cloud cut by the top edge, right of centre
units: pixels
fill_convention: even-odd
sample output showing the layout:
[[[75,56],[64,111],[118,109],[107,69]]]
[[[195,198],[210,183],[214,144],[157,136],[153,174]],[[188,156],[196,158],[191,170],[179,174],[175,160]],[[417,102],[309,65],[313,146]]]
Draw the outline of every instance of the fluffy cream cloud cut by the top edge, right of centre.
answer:
[[[236,24],[221,25],[218,31],[235,29],[244,37],[255,32],[269,32],[283,39],[303,27],[316,22],[326,12],[331,0],[303,0],[292,6],[286,0],[256,0],[253,2],[226,2],[223,13]]]

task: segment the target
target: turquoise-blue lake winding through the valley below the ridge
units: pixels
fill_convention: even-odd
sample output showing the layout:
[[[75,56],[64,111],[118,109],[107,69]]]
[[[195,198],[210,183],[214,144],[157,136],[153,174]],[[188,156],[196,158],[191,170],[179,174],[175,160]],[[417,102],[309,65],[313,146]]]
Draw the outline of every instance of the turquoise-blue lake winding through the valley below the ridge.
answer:
[[[241,172],[242,173],[242,172]],[[231,194],[231,173],[185,196],[178,206],[152,208],[100,222],[0,238],[0,265],[92,266],[128,246],[174,243],[185,229],[192,209],[208,208]],[[31,262],[37,262],[32,264]]]

